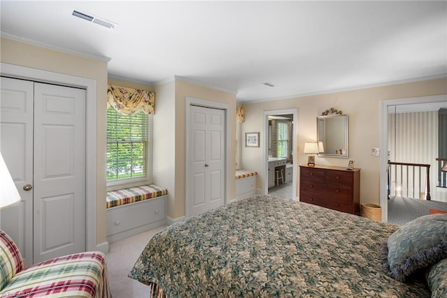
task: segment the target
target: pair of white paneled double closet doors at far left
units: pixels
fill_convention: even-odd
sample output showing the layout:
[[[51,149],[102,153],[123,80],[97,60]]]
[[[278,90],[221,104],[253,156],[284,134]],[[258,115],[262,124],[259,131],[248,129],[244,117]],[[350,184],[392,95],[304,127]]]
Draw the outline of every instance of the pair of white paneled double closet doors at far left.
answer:
[[[3,77],[0,89],[0,150],[22,198],[0,228],[27,266],[84,251],[85,90]]]

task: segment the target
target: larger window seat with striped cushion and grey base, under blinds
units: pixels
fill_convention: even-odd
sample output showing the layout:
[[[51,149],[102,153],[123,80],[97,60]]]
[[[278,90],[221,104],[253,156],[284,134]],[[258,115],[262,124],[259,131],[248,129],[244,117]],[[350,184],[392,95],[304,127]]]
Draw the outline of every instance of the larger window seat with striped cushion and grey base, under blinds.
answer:
[[[119,241],[166,225],[168,190],[142,185],[107,192],[107,241]]]

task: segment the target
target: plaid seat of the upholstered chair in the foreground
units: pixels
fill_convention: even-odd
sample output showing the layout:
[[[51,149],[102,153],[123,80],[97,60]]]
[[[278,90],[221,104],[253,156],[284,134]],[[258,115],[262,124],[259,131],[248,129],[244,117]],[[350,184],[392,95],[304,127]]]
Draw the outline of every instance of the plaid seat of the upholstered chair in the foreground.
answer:
[[[35,264],[16,274],[0,297],[111,297],[105,255],[75,253]]]

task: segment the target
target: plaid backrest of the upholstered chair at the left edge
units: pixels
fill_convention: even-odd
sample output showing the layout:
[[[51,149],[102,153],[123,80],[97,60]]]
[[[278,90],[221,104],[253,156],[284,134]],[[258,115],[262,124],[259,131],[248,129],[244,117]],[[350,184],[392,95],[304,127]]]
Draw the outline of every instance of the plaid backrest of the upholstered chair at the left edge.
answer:
[[[0,290],[22,269],[23,260],[19,249],[13,239],[0,229]]]

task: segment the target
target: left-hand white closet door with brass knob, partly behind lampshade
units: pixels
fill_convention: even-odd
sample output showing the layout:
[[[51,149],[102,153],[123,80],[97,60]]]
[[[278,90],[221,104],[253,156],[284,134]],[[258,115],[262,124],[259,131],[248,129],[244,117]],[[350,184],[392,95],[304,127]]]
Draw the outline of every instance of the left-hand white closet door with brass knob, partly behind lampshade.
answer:
[[[33,121],[34,82],[1,78],[0,151],[21,201],[0,211],[3,229],[20,250],[25,266],[33,264]]]

